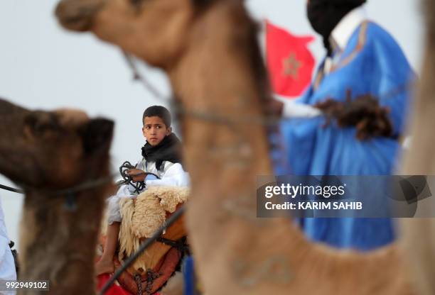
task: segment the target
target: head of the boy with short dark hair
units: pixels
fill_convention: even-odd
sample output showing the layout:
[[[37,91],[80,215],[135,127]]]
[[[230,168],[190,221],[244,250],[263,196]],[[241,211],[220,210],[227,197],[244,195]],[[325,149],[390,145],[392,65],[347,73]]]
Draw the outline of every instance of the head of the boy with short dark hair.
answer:
[[[146,141],[152,146],[159,145],[163,138],[172,132],[171,113],[163,106],[146,108],[144,116],[142,116],[142,123],[144,123],[142,133]]]

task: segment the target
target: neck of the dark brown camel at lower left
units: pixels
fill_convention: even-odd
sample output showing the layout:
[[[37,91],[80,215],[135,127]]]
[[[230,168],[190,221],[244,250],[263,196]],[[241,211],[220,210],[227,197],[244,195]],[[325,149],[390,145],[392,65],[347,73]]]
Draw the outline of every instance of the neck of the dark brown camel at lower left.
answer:
[[[77,194],[75,210],[65,206],[67,196],[26,194],[20,279],[49,280],[53,294],[95,294],[93,267],[104,205],[102,191]]]

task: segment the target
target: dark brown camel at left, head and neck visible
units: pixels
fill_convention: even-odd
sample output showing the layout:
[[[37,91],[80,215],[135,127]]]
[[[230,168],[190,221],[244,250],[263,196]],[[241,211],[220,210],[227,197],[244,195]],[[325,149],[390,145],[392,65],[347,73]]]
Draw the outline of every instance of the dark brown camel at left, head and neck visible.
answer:
[[[112,187],[112,130],[112,121],[80,111],[29,111],[0,99],[0,173],[26,192],[19,279],[49,280],[48,294],[95,294],[97,234]],[[103,179],[73,194],[63,191]]]

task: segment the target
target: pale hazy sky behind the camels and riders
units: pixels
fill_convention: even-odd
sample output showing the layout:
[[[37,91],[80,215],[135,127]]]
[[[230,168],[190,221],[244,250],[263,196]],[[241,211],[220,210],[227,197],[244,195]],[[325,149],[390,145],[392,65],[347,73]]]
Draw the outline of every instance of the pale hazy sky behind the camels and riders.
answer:
[[[131,82],[117,48],[90,34],[60,28],[53,16],[55,4],[55,0],[0,1],[0,96],[28,108],[68,106],[112,118],[116,121],[113,166],[138,160],[144,144],[142,112],[163,103]],[[268,18],[296,35],[314,34],[305,4],[305,0],[247,0],[255,18]],[[423,34],[419,1],[369,0],[366,6],[369,17],[394,35],[418,71]],[[323,55],[321,44],[319,39],[311,44],[317,59]],[[171,93],[159,70],[141,65],[141,72],[160,91]],[[0,184],[10,182],[0,175]],[[17,240],[22,197],[0,191],[0,199],[9,236]]]

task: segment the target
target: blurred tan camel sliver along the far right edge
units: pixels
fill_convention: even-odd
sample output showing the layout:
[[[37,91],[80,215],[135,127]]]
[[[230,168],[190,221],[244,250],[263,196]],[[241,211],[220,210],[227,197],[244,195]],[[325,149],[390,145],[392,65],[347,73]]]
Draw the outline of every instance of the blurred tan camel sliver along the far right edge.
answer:
[[[410,134],[412,143],[404,157],[402,174],[435,175],[432,126],[435,125],[435,2],[423,1],[426,18],[426,46],[423,69],[419,82],[419,94],[414,105],[414,116]],[[432,192],[433,193],[433,192]],[[412,271],[418,279],[420,294],[435,294],[435,221],[428,218],[414,218],[400,223],[403,243]]]

